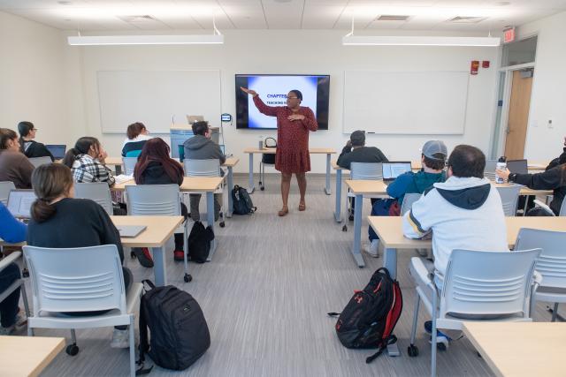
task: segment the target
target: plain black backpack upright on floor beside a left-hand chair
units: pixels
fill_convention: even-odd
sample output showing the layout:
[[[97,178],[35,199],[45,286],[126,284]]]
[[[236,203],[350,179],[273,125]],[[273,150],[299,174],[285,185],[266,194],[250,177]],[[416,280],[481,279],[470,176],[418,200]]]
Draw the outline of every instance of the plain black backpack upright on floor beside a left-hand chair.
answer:
[[[143,283],[151,290],[146,291],[140,303],[141,367],[136,374],[147,374],[153,368],[143,369],[146,353],[157,366],[176,371],[187,369],[210,347],[209,328],[201,306],[175,286],[156,288],[149,280]]]

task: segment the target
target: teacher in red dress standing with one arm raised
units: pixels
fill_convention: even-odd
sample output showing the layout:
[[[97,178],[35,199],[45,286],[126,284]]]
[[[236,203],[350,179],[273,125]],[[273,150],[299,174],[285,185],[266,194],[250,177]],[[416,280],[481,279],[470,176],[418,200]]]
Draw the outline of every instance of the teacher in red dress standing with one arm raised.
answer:
[[[301,200],[299,211],[306,209],[304,201],[307,192],[307,178],[305,173],[310,171],[309,131],[317,131],[317,118],[311,109],[302,107],[302,93],[291,90],[287,94],[287,106],[267,106],[257,95],[255,90],[241,87],[241,90],[251,94],[256,108],[269,117],[277,117],[277,150],[275,152],[275,169],[281,172],[281,198],[283,207],[279,216],[289,213],[287,200],[291,177],[297,178]]]

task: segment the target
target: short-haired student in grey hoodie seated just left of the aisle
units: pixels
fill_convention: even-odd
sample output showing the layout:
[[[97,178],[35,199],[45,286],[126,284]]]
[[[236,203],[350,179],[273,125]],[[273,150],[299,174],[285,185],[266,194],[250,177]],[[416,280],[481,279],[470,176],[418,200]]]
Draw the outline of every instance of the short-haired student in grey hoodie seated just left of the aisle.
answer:
[[[209,123],[206,121],[198,121],[193,123],[193,136],[187,139],[183,144],[185,147],[185,158],[188,160],[208,160],[217,159],[220,164],[226,162],[226,155],[222,154],[222,150],[217,143],[210,139]],[[191,193],[189,195],[191,206],[191,218],[199,221],[201,215],[198,211],[198,204],[201,201],[200,193]],[[220,207],[222,203],[222,194],[214,194],[214,221],[218,220]]]

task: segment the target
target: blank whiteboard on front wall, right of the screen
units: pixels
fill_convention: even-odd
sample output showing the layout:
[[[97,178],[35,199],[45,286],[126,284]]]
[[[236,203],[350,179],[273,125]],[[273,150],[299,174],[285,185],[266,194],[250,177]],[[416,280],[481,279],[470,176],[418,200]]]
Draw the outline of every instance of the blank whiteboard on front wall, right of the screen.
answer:
[[[345,133],[463,134],[469,72],[344,72]]]

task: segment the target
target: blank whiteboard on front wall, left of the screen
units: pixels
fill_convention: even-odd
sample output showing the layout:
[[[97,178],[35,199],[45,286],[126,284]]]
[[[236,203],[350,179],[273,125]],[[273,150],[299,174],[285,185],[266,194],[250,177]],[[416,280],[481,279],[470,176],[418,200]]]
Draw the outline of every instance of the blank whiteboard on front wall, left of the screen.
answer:
[[[104,133],[126,133],[142,122],[151,133],[169,133],[187,115],[220,119],[220,71],[99,71],[100,121]],[[174,120],[174,121],[173,121]]]

